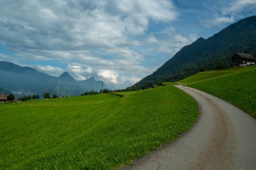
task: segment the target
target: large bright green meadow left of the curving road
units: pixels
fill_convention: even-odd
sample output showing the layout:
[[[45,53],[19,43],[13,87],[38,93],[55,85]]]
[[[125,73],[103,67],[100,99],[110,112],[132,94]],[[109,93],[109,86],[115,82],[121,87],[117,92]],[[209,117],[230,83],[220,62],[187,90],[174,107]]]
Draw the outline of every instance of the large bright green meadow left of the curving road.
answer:
[[[0,169],[118,169],[172,142],[197,120],[167,85],[0,105]]]

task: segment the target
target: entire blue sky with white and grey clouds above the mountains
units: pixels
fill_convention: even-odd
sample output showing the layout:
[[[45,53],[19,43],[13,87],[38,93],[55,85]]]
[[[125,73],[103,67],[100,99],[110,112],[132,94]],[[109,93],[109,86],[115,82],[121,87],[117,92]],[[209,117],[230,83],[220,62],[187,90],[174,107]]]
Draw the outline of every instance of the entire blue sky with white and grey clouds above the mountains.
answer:
[[[251,15],[255,0],[0,0],[0,60],[123,89]]]

